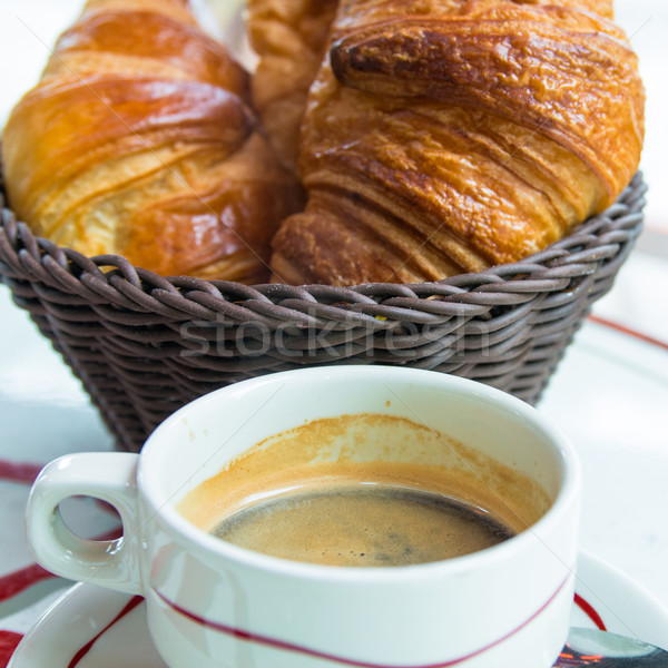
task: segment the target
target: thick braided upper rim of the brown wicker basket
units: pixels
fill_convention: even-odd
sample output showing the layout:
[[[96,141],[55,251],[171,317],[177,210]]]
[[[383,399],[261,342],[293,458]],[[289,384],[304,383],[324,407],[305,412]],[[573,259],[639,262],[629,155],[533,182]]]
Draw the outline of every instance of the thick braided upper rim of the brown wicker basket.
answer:
[[[569,235],[519,262],[482,272],[429,283],[369,283],[345,287],[244,285],[193,276],[160,276],[134,266],[119,255],[87,257],[38,237],[26,223],[18,222],[7,206],[0,175],[0,281],[41,282],[51,289],[79,295],[95,304],[112,304],[178,320],[210,320],[212,310],[233,321],[242,316],[247,320],[252,311],[253,318],[291,317],[307,324],[305,311],[311,310],[318,320],[337,320],[343,312],[346,318],[356,313],[369,323],[370,318],[401,320],[406,310],[413,312],[411,320],[414,320],[416,304],[428,321],[430,315],[445,315],[449,304],[458,307],[459,315],[473,317],[493,306],[522,304],[531,294],[561,291],[573,278],[590,275],[601,263],[613,259],[620,244],[640,233],[646,190],[642,174],[638,171],[616,203],[578,225]],[[102,271],[104,267],[111,268]]]

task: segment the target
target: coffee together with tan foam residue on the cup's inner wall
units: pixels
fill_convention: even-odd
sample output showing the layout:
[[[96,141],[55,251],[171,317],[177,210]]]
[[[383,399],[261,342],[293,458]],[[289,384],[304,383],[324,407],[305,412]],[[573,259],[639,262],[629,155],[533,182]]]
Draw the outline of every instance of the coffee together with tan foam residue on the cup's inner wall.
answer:
[[[314,420],[250,448],[177,510],[208,533],[283,559],[410,566],[509,539],[549,508],[544,490],[405,418]]]

